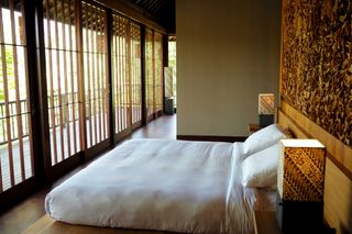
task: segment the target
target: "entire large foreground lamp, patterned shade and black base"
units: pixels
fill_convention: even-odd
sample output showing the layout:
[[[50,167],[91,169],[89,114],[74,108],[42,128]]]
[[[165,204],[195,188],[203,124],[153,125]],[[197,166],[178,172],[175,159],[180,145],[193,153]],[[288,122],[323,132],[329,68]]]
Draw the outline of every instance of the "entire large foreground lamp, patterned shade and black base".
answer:
[[[323,223],[326,148],[317,140],[282,140],[276,219],[283,233],[315,233]]]

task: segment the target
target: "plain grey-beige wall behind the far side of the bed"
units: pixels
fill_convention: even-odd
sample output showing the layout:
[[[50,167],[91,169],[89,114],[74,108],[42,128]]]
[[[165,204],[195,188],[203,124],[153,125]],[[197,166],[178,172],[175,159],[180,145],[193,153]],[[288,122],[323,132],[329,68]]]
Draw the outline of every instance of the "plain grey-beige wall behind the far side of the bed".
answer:
[[[278,97],[279,0],[177,0],[177,134],[248,135]]]

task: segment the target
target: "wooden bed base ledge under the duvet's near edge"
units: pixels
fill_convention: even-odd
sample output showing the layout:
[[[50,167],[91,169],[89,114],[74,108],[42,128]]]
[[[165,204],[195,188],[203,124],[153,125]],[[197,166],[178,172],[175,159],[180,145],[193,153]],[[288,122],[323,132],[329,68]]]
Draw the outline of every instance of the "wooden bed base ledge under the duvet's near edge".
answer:
[[[172,234],[172,232],[157,232],[157,231],[140,231],[140,230],[123,230],[123,229],[109,229],[85,225],[72,225],[55,221],[48,215],[42,216],[38,221],[26,229],[24,234]]]

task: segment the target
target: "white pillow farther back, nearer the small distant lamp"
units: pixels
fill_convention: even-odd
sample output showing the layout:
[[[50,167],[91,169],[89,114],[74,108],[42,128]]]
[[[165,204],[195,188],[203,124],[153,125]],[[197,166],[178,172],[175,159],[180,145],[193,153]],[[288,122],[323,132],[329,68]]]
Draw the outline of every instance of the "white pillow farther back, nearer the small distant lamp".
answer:
[[[268,146],[276,144],[279,140],[286,138],[284,131],[277,125],[268,125],[252,135],[250,135],[244,142],[244,155],[249,156],[256,152],[260,152]]]

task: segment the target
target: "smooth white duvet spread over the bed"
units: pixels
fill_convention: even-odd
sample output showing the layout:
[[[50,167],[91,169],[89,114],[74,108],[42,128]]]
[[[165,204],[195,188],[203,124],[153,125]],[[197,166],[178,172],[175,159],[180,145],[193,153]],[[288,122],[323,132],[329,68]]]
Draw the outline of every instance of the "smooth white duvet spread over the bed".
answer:
[[[241,143],[130,140],[45,199],[55,220],[184,233],[252,233]]]

